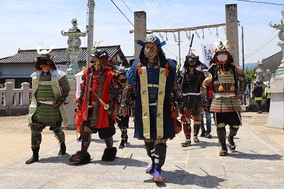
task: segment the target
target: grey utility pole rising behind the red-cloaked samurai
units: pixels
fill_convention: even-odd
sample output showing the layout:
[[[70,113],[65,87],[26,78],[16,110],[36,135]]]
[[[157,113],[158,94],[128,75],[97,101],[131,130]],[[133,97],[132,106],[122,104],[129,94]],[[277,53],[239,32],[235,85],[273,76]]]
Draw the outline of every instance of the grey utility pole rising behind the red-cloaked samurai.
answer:
[[[94,43],[94,0],[88,0],[89,6],[89,21],[88,21],[88,41],[87,41],[87,63],[86,68],[89,68],[89,55],[91,55],[92,46]]]

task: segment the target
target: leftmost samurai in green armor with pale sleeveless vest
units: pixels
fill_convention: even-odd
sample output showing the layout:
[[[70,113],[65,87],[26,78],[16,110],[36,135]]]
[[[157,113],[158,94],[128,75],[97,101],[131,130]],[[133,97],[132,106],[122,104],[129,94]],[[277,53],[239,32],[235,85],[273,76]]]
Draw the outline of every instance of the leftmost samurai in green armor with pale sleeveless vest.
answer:
[[[50,50],[48,50],[50,52]],[[42,53],[43,52],[43,53]],[[41,144],[41,132],[50,126],[60,144],[58,155],[65,155],[65,134],[62,131],[62,122],[65,126],[69,119],[65,110],[65,99],[69,95],[70,85],[65,72],[57,70],[53,56],[45,50],[38,50],[35,58],[36,70],[31,75],[32,89],[31,105],[28,113],[28,123],[31,128],[31,149],[33,156],[26,161],[31,164],[38,161],[38,151]]]

